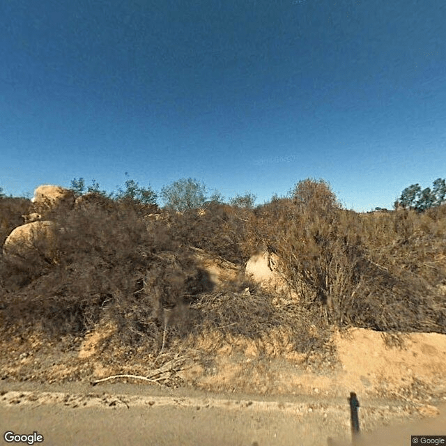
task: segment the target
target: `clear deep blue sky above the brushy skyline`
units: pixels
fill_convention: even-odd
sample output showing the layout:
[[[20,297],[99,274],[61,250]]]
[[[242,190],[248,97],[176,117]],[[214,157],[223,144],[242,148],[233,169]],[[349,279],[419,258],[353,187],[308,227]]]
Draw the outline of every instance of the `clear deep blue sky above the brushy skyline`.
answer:
[[[0,186],[125,172],[391,208],[446,177],[446,3],[4,0]]]

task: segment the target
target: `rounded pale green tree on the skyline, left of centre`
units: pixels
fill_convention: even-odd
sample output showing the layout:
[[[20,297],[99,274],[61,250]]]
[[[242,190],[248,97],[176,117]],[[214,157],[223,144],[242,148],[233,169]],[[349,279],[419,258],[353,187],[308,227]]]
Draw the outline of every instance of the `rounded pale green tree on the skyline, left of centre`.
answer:
[[[200,185],[196,179],[182,178],[162,187],[161,197],[165,206],[171,210],[184,212],[203,208],[206,204],[206,186]]]

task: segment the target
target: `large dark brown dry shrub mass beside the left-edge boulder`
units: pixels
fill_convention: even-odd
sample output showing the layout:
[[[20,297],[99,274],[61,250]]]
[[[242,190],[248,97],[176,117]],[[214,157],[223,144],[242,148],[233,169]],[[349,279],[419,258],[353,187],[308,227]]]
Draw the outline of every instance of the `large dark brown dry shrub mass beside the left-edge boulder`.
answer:
[[[6,321],[60,337],[109,320],[125,345],[159,348],[163,309],[179,305],[197,285],[185,250],[164,226],[148,231],[128,203],[84,203],[53,218],[63,228],[57,263],[46,268],[28,263],[27,269],[3,265],[2,278],[15,275],[18,285],[3,287]]]

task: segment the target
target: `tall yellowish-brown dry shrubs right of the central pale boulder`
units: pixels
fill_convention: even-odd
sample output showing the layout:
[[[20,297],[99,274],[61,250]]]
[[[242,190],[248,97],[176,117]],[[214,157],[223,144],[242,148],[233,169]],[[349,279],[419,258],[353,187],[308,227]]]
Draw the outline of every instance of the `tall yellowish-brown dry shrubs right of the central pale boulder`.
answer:
[[[249,237],[279,255],[298,308],[325,323],[445,332],[445,300],[433,288],[446,272],[444,228],[414,211],[343,210],[327,183],[305,180],[292,201],[256,210]]]

